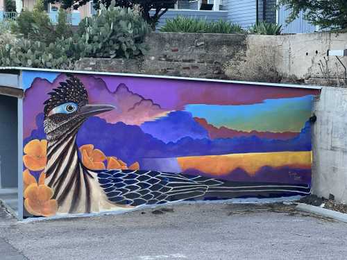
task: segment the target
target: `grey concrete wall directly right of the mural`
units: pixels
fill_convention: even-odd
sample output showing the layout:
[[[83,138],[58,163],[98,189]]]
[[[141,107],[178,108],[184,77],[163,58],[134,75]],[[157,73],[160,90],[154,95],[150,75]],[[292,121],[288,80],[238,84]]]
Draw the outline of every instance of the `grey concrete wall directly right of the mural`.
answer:
[[[323,87],[314,103],[313,190],[347,202],[347,89]]]

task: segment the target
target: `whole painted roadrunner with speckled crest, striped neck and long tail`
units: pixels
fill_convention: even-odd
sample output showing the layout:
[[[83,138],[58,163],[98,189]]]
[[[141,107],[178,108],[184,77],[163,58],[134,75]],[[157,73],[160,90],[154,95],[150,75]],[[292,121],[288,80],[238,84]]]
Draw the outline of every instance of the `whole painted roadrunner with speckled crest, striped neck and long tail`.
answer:
[[[78,157],[78,129],[88,116],[115,107],[89,105],[83,83],[72,75],[49,95],[44,102],[46,184],[54,191],[60,213],[90,213],[196,198],[310,193],[310,187],[301,184],[228,182],[159,171],[90,170]]]

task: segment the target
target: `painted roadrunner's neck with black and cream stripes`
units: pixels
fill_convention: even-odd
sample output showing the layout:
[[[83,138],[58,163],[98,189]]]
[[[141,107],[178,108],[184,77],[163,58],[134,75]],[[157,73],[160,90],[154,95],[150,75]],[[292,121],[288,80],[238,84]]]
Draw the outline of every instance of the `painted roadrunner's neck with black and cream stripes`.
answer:
[[[93,176],[78,158],[76,135],[80,124],[47,145],[45,183],[53,189],[59,207],[69,213],[91,211]]]

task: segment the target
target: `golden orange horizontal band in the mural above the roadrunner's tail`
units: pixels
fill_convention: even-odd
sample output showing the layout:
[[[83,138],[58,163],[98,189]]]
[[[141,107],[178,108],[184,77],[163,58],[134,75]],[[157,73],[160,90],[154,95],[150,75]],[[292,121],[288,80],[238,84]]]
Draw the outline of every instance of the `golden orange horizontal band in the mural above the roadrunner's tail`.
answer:
[[[178,157],[178,164],[183,171],[195,169],[216,176],[227,175],[237,168],[242,168],[249,175],[255,175],[263,166],[311,168],[311,162],[310,151]]]

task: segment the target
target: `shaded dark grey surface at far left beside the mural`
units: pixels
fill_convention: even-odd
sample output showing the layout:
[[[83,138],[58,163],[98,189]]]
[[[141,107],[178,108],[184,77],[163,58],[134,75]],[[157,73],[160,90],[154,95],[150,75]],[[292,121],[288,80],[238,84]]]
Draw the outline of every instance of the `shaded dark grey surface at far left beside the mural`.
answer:
[[[0,95],[0,187],[17,187],[17,98]]]

